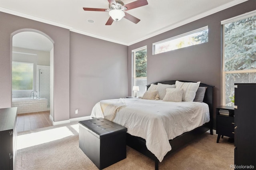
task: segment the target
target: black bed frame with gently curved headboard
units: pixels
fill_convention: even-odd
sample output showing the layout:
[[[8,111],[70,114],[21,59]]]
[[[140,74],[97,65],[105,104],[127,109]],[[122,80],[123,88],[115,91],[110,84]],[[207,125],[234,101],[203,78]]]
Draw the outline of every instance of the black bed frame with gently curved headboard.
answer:
[[[193,82],[193,81],[183,81],[182,82]],[[162,84],[175,84],[176,80],[169,80],[169,81],[159,81],[153,84],[162,83]],[[194,83],[194,82],[193,82]],[[189,143],[193,139],[197,138],[200,134],[203,134],[204,132],[210,130],[210,134],[213,134],[213,85],[207,85],[204,83],[200,83],[200,87],[207,87],[206,92],[204,94],[204,103],[207,103],[209,105],[210,110],[210,122],[205,123],[204,125],[195,128],[194,130],[191,130],[189,132],[185,132],[181,134],[180,136],[177,136],[176,138],[169,140],[170,145],[172,146],[172,150],[170,150],[166,155],[174,152],[175,150],[178,150],[179,148],[182,148],[185,144]],[[146,85],[147,89],[150,87],[149,85]],[[149,158],[153,159],[155,161],[155,169],[158,170],[158,163],[159,160],[156,158],[152,152],[148,150],[146,147],[146,140],[137,136],[132,136],[128,133],[126,133],[126,144],[130,146],[131,148],[134,148],[138,152],[144,154],[145,156],[148,156]]]

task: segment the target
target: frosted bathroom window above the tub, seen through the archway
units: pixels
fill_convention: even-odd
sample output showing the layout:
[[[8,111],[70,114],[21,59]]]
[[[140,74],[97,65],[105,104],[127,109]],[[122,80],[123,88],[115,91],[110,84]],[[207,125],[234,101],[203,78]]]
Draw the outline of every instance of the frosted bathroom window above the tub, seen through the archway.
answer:
[[[12,62],[12,90],[33,90],[34,64]]]

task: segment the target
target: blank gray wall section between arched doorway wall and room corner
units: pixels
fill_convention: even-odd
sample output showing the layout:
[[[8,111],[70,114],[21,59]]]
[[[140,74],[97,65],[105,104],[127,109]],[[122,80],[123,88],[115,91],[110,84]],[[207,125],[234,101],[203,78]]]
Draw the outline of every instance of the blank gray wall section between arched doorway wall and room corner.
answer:
[[[89,116],[100,100],[128,95],[127,50],[70,32],[70,118]]]

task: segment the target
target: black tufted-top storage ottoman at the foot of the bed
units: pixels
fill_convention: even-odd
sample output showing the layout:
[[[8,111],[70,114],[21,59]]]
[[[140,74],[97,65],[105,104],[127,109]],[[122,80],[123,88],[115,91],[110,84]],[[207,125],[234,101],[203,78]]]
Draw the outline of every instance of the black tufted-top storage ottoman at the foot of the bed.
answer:
[[[103,118],[78,124],[79,147],[99,169],[126,158],[126,127]]]

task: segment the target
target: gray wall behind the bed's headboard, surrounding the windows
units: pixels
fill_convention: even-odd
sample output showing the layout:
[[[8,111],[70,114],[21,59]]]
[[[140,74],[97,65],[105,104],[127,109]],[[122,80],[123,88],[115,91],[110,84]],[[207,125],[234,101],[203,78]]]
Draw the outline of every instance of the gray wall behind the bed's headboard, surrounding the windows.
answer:
[[[180,26],[179,28],[130,45],[128,47],[128,65],[132,64],[131,51],[147,45],[148,84],[161,80],[178,79],[201,81],[202,83],[214,85],[214,107],[216,107],[221,104],[222,26],[220,22],[252,10],[256,10],[255,0],[246,1],[184,26]],[[207,43],[152,55],[152,43],[196,30],[204,26],[208,26]],[[132,87],[132,67],[128,67],[128,75],[130,94]]]

